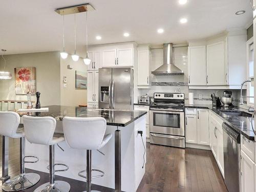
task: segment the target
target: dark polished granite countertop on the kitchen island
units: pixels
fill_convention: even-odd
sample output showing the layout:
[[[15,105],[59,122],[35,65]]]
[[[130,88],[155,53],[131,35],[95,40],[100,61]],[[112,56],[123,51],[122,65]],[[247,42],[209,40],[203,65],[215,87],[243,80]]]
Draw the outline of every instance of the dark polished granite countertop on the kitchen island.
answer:
[[[107,125],[126,126],[136,119],[146,115],[144,111],[133,110],[111,110],[111,109],[88,109],[82,106],[62,106],[50,105],[44,106],[49,108],[48,112],[18,112],[20,116],[50,116],[56,120],[62,120],[63,117],[103,117]]]

